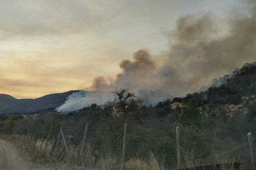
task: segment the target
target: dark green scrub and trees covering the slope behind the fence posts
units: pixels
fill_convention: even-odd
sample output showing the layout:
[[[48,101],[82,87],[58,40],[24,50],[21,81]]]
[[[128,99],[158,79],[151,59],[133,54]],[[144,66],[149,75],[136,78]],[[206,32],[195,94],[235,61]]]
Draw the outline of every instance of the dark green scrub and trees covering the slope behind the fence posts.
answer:
[[[256,65],[247,64],[236,69],[233,78],[220,87],[168,99],[154,107],[142,105],[142,99],[127,89],[115,89],[115,100],[103,107],[93,104],[68,114],[2,115],[0,133],[27,134],[38,143],[47,138],[52,125],[49,145],[52,146],[64,122],[63,131],[73,151],[68,154],[70,157],[61,160],[89,167],[103,166],[100,162],[108,161],[112,167],[101,167],[107,170],[118,169],[121,164],[123,127],[128,124],[127,169],[160,170],[176,167],[175,127],[179,126],[181,157],[186,166],[209,164],[209,160],[243,161],[247,166],[250,162],[247,133],[256,136],[255,80]],[[81,161],[79,148],[87,122],[84,151],[87,157]]]

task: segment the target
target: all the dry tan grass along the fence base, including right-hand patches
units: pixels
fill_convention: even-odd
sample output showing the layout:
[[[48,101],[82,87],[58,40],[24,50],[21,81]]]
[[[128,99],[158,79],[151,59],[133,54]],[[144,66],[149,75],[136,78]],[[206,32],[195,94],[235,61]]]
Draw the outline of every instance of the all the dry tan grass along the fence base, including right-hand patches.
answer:
[[[49,142],[47,147],[46,141],[33,139],[31,136],[25,135],[1,135],[3,138],[14,143],[22,153],[29,156],[32,161],[36,162],[47,162],[47,163],[61,163],[67,164],[71,167],[79,167],[86,170],[120,170],[122,164],[120,162],[121,158],[113,153],[108,153],[104,156],[99,156],[96,159],[93,156],[92,147],[90,144],[87,144],[84,148],[82,155],[80,154],[81,146],[69,145],[68,153],[64,151],[56,159],[58,153],[60,153],[61,148],[64,146],[58,147],[58,152],[56,154],[51,154],[53,142]],[[61,145],[61,144],[60,144]],[[183,166],[184,167],[195,167],[201,165],[209,164],[227,164],[237,162],[237,160],[232,160],[229,158],[218,158],[210,157],[208,159],[195,159],[192,158],[193,153],[189,153],[183,150]],[[148,159],[140,158],[131,158],[125,163],[125,170],[165,170],[163,163],[154,156],[152,152],[147,156]],[[162,160],[164,160],[164,156]],[[226,170],[233,170],[233,167],[224,168]],[[244,168],[241,168],[244,169]],[[245,168],[247,169],[247,168]]]

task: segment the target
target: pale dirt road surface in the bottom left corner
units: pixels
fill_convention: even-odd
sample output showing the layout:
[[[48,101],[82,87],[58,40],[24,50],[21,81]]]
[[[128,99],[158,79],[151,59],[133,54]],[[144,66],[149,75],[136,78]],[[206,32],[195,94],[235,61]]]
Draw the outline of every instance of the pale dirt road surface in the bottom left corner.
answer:
[[[0,170],[29,170],[14,147],[0,139]]]

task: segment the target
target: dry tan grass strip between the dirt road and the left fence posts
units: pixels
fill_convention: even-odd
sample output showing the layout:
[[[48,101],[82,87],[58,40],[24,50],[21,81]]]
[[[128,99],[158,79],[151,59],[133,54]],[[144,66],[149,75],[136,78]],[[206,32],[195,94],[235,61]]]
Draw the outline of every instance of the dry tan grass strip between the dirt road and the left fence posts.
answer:
[[[58,154],[51,154],[53,142],[50,141],[46,146],[46,141],[35,140],[27,135],[1,135],[4,139],[14,143],[22,153],[29,156],[32,161],[47,162],[47,163],[65,163],[72,167],[80,167],[81,169],[89,170],[120,170],[120,158],[112,153],[105,156],[99,156],[97,160],[93,156],[92,147],[90,144],[84,148],[82,155],[80,154],[81,146],[69,145],[68,153],[65,151],[59,158]],[[62,148],[62,146],[60,147]],[[58,150],[57,153],[59,153]],[[119,161],[118,161],[119,160]],[[125,163],[125,170],[164,170],[160,166],[153,153],[150,153],[148,160],[140,160],[132,158]]]

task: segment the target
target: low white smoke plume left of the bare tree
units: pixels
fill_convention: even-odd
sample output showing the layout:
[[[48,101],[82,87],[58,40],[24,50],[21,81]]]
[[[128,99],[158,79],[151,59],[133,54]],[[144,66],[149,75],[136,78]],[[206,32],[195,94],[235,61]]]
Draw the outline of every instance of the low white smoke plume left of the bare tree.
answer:
[[[78,91],[67,97],[63,105],[56,108],[61,113],[69,113],[70,111],[78,111],[84,107],[88,107],[93,103],[104,105],[113,99],[113,94],[104,91]]]

